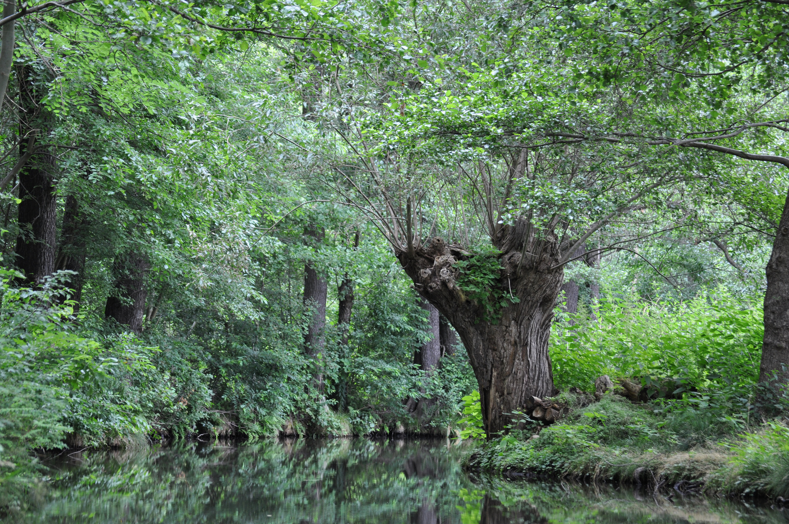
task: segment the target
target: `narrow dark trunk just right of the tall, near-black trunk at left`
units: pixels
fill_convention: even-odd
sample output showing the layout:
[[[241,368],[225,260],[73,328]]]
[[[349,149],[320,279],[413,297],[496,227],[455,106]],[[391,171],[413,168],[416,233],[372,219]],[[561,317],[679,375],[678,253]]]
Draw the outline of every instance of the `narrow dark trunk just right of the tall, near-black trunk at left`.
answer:
[[[75,302],[74,313],[80,310],[82,299],[83,273],[85,271],[85,230],[84,219],[80,212],[80,204],[73,195],[65,197],[63,211],[62,244],[58,249],[55,271],[74,271],[69,276],[69,289],[72,290],[71,300]]]

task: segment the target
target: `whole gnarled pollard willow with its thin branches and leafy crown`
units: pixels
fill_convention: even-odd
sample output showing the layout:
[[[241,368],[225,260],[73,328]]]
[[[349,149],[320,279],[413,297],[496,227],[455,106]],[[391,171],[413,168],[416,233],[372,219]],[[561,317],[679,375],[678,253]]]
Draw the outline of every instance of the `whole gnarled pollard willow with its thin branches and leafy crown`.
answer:
[[[654,234],[669,193],[707,177],[703,162],[609,133],[621,117],[610,93],[563,107],[524,88],[531,74],[509,91],[480,75],[462,97],[425,85],[365,133],[339,130],[356,154],[335,185],[458,331],[489,436],[529,396],[555,393],[548,338],[566,264]]]

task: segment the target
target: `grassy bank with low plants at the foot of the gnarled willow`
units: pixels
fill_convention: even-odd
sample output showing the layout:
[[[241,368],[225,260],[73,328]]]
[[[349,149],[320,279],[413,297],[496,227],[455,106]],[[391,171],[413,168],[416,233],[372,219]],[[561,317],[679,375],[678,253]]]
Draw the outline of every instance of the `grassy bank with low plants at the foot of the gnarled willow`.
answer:
[[[563,395],[565,402],[578,402]],[[712,410],[666,411],[618,395],[477,447],[465,466],[510,476],[616,481],[650,489],[789,497],[789,428]]]

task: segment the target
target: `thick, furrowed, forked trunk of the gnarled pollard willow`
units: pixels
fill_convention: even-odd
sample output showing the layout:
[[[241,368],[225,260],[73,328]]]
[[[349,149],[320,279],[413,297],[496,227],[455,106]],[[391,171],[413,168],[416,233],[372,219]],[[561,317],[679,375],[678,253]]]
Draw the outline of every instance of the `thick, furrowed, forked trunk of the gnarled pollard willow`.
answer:
[[[447,317],[466,346],[480,387],[488,438],[505,430],[511,414],[522,410],[529,396],[555,394],[548,338],[563,280],[556,238],[534,239],[525,220],[501,227],[494,245],[503,253],[495,286],[507,295],[511,289],[519,299],[503,307],[497,301],[494,318],[456,283],[458,268],[453,264],[470,253],[440,238],[424,248],[412,246],[413,256],[408,251],[395,253],[420,294]]]

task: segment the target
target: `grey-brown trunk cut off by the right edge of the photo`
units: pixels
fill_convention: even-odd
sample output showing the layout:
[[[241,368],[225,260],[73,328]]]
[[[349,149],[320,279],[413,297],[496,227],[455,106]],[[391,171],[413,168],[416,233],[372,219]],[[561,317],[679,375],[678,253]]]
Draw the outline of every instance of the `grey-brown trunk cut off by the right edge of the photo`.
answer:
[[[765,339],[761,346],[759,380],[789,383],[789,196],[767,263]],[[778,387],[779,384],[775,384]]]

